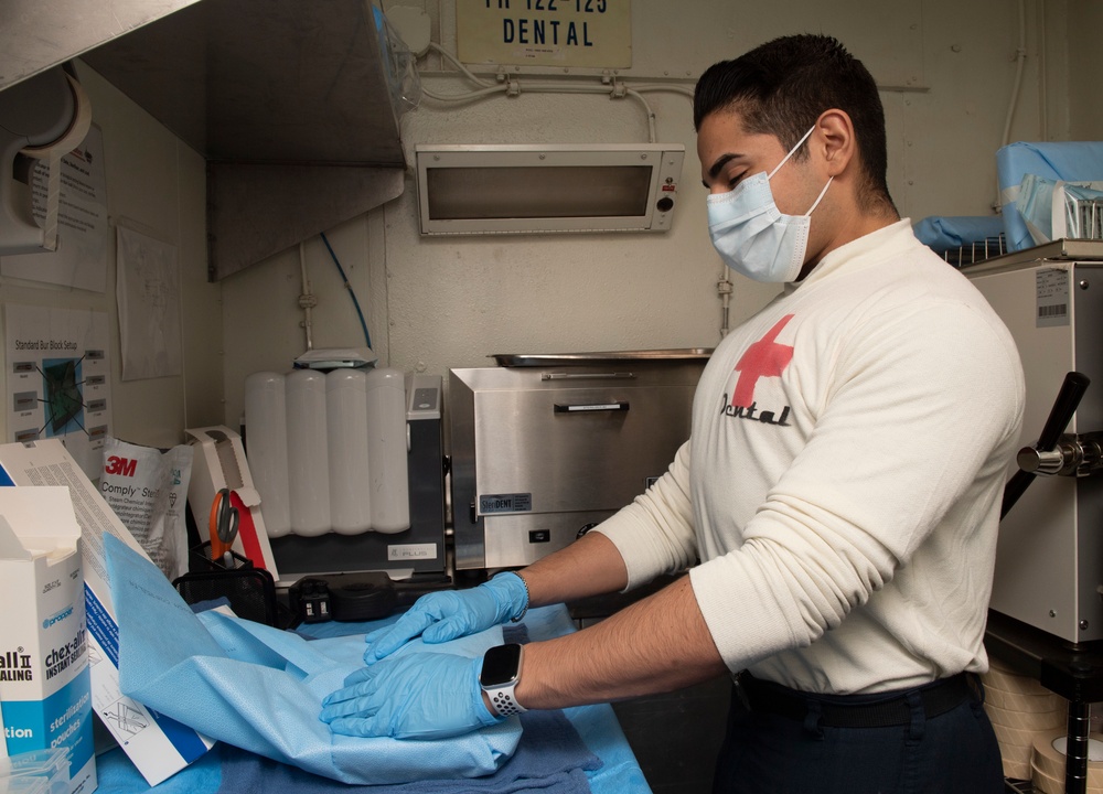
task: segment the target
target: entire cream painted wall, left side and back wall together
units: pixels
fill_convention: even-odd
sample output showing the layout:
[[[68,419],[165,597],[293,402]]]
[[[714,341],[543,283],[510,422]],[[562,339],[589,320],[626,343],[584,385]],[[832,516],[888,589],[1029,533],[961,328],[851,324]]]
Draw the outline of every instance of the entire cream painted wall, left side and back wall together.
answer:
[[[453,0],[399,0],[426,10],[433,41],[454,51]],[[385,0],[384,8],[396,4]],[[716,60],[774,35],[823,31],[867,62],[882,86],[890,189],[903,215],[982,215],[995,195],[995,151],[1011,105],[1019,8],[1022,79],[1011,140],[1100,139],[1094,44],[1096,0],[635,0],[628,83],[692,88]],[[468,85],[435,56],[424,81],[438,92]],[[108,211],[180,246],[184,363],[179,378],[121,383],[114,265],[105,294],[0,280],[0,301],[94,307],[111,318],[116,432],[140,443],[178,441],[184,427],[236,426],[247,374],[286,369],[304,348],[297,301],[299,250],[218,285],[205,280],[202,158],[89,69],[81,69],[104,130]],[[524,82],[524,77],[522,78]],[[435,238],[417,235],[414,186],[328,234],[368,316],[383,363],[445,375],[501,352],[713,346],[721,265],[705,232],[704,189],[690,120],[678,94],[647,94],[657,137],[683,143],[686,164],[674,228],[655,235]],[[425,100],[403,119],[408,151],[420,142],[627,142],[646,140],[631,100],[524,94],[459,108]],[[319,297],[315,346],[363,344],[360,323],[324,246],[303,255]],[[114,262],[114,240],[109,251]],[[737,278],[732,322],[772,294]],[[222,303],[219,303],[219,300]]]

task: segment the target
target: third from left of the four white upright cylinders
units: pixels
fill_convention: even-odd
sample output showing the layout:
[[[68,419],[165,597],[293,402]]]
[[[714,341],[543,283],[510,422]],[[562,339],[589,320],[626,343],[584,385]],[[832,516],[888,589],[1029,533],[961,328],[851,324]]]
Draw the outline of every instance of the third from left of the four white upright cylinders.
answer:
[[[364,483],[367,452],[367,374],[334,369],[325,376],[325,422],[330,448],[330,522],[333,532],[358,535],[372,528],[372,497]]]

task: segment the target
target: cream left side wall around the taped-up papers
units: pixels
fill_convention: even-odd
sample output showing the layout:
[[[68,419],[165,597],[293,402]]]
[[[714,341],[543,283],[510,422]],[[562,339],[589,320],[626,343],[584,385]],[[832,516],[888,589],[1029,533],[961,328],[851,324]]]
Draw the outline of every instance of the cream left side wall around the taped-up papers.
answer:
[[[92,104],[93,122],[104,133],[111,224],[107,290],[96,293],[2,278],[0,302],[107,312],[115,436],[133,443],[168,447],[183,440],[184,427],[221,423],[224,412],[222,289],[206,280],[205,165],[202,157],[98,74],[83,64],[77,65],[77,74]],[[179,249],[182,376],[121,380],[115,300],[115,225],[120,219]],[[6,414],[0,412],[3,425]],[[7,438],[7,427],[2,431]]]

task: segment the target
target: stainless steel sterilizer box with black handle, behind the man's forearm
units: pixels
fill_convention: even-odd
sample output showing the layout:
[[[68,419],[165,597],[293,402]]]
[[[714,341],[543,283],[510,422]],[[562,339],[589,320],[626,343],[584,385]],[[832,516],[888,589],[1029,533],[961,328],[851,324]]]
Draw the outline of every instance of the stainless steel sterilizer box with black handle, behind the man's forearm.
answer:
[[[689,438],[707,351],[503,356],[452,369],[456,567],[523,566],[646,490]]]

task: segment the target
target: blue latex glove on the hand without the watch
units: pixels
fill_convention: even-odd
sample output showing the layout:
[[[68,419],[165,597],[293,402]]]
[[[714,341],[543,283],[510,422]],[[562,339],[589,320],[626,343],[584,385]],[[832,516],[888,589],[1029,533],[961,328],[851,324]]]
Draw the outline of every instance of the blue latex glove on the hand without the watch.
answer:
[[[528,609],[528,588],[516,573],[499,573],[469,590],[449,590],[419,598],[393,625],[377,629],[364,640],[364,664],[374,665],[416,636],[429,645],[478,634]]]

